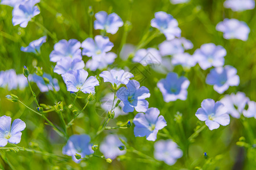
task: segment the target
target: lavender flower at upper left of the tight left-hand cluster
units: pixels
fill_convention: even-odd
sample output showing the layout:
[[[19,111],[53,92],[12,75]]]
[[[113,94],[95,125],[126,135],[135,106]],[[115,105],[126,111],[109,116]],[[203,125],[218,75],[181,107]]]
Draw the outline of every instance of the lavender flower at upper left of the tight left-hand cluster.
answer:
[[[82,59],[81,43],[76,39],[60,40],[54,45],[54,50],[49,55],[50,61],[57,62],[61,58]]]

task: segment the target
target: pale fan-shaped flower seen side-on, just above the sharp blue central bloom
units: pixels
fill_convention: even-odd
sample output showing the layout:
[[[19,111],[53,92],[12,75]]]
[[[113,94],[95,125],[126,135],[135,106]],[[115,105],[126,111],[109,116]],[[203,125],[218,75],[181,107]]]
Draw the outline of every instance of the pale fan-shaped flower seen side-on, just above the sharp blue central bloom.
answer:
[[[134,77],[133,74],[125,72],[125,70],[110,70],[102,71],[100,76],[104,79],[104,82],[110,82],[114,87],[114,84],[120,86],[121,84],[127,84],[130,78]]]

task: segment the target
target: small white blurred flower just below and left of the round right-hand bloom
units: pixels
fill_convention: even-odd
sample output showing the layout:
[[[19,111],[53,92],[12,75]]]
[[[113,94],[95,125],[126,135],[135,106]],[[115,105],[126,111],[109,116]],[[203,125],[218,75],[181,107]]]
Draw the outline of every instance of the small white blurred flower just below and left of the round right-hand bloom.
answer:
[[[191,56],[189,53],[179,53],[175,54],[172,58],[173,65],[181,65],[184,69],[190,69],[196,65],[196,59],[194,56]]]

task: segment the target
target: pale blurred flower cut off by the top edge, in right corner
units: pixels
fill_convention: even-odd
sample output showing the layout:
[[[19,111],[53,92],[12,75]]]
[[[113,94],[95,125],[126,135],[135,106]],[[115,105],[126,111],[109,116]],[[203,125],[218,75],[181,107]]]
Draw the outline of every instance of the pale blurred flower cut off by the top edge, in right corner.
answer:
[[[231,8],[232,11],[252,10],[255,7],[254,0],[226,0],[224,2],[225,8]]]

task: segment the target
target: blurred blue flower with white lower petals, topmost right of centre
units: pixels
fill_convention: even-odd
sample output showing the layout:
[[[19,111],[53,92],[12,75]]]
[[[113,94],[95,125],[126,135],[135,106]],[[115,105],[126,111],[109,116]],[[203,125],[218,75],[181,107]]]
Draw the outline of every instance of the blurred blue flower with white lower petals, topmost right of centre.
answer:
[[[151,26],[158,28],[166,36],[167,40],[180,37],[181,34],[177,20],[171,14],[163,11],[155,12],[155,18],[151,20]]]

